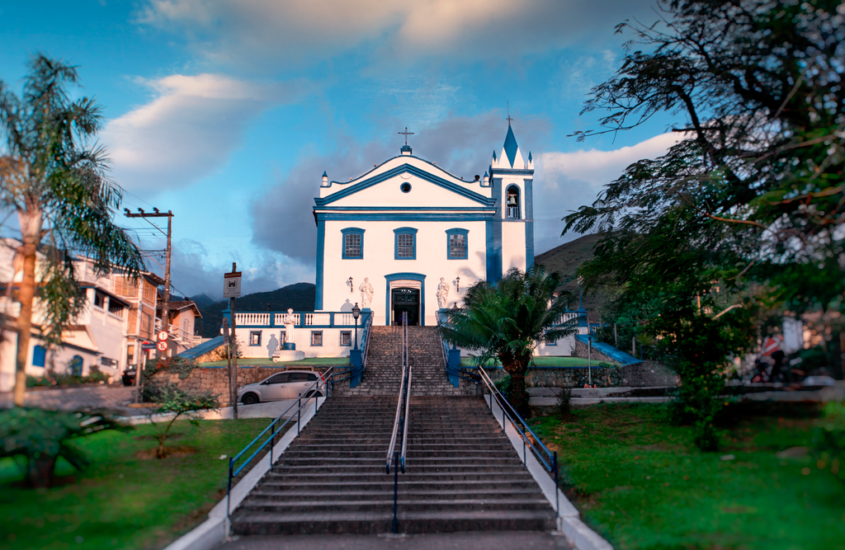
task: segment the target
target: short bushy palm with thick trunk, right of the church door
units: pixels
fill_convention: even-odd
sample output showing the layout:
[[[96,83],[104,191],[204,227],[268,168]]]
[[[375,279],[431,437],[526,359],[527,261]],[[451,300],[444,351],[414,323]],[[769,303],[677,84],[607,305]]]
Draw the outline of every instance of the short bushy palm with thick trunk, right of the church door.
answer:
[[[563,321],[571,295],[555,292],[561,282],[560,273],[542,266],[513,268],[496,284],[479,281],[467,289],[464,307],[448,312],[441,327],[449,343],[480,352],[479,364],[498,357],[511,377],[508,400],[520,413],[528,408],[525,372],[537,344],[575,332],[577,320]]]

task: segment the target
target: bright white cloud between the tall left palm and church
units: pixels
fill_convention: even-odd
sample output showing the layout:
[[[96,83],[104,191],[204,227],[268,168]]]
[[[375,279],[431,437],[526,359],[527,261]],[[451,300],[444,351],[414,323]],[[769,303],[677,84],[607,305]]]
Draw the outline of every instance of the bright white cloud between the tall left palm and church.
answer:
[[[256,116],[314,89],[302,80],[257,83],[214,74],[139,82],[155,99],[109,121],[102,139],[115,180],[148,193],[185,187],[213,172]]]

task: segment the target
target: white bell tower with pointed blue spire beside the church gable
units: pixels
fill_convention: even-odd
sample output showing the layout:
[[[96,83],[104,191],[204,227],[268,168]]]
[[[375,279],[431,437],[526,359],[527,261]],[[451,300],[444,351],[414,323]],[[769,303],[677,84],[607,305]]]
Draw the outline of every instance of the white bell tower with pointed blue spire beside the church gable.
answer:
[[[493,273],[490,282],[512,267],[534,266],[534,159],[522,154],[508,117],[508,133],[500,155],[493,151],[490,181],[497,212],[493,222]]]

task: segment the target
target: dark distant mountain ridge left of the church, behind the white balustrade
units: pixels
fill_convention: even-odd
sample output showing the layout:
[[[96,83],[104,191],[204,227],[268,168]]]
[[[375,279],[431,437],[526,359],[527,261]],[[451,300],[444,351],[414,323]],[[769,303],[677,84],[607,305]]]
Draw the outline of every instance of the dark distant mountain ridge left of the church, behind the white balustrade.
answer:
[[[247,294],[235,300],[235,313],[267,311],[267,304],[270,304],[271,311],[287,311],[288,308],[293,308],[294,311],[314,311],[316,288],[311,283],[296,283],[270,292]],[[194,301],[196,302],[196,298]],[[202,313],[202,319],[199,319],[200,334],[203,338],[218,336],[223,324],[223,310],[229,309],[229,300],[213,302],[206,306],[199,306],[197,302],[197,306]]]

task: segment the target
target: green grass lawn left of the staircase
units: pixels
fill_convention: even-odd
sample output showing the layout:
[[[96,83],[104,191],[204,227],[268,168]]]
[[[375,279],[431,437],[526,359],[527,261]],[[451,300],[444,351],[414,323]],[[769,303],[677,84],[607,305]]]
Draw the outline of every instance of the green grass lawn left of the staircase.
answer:
[[[162,548],[206,519],[225,495],[228,460],[267,426],[263,418],[177,421],[171,447],[196,454],[142,460],[162,425],[78,440],[93,464],[51,489],[21,487],[11,459],[0,460],[0,548],[4,550]],[[74,472],[60,463],[60,475]],[[75,475],[75,474],[72,474]]]

